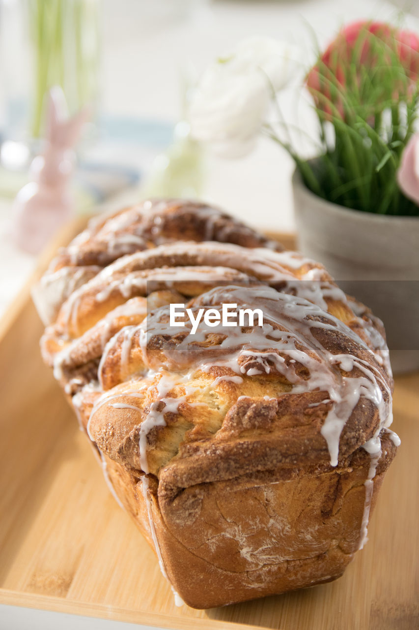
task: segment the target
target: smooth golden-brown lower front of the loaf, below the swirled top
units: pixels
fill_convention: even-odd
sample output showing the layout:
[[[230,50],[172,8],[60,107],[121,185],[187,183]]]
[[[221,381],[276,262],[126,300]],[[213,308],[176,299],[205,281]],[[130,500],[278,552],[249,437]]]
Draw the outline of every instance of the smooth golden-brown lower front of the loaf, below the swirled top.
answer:
[[[396,452],[382,437],[371,510]],[[126,510],[154,544],[142,479],[106,461]],[[172,585],[186,604],[210,608],[338,578],[359,547],[369,465],[359,449],[334,470],[290,466],[181,491],[150,479],[155,536]]]

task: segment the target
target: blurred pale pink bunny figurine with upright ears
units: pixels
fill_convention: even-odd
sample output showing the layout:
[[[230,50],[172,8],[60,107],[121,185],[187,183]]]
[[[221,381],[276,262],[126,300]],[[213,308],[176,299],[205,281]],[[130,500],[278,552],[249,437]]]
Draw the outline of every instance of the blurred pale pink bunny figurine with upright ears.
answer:
[[[87,120],[87,108],[67,118],[61,88],[48,95],[47,143],[43,154],[30,168],[30,183],[16,195],[13,208],[13,235],[16,243],[36,254],[74,212],[69,180],[75,163],[74,145]]]

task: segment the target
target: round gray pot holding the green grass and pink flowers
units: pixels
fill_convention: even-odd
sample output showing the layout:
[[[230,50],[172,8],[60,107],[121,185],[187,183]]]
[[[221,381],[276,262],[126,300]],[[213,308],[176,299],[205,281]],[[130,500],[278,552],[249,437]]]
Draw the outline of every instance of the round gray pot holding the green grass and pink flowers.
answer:
[[[349,210],[293,176],[298,247],[386,326],[394,373],[419,369],[419,217]]]

